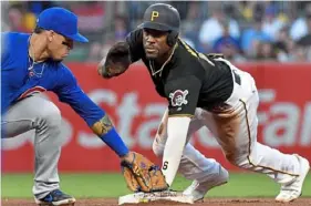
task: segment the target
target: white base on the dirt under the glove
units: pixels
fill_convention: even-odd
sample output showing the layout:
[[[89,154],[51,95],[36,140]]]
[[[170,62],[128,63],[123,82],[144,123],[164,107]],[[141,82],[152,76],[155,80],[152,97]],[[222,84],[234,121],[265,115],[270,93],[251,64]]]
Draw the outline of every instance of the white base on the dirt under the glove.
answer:
[[[194,204],[194,197],[183,195],[180,192],[156,192],[156,193],[134,193],[118,197],[118,205],[123,204],[137,204],[137,203],[149,203],[154,200],[172,200],[178,203]]]

